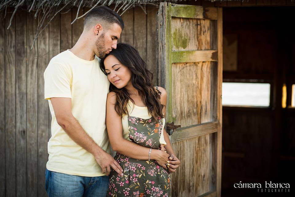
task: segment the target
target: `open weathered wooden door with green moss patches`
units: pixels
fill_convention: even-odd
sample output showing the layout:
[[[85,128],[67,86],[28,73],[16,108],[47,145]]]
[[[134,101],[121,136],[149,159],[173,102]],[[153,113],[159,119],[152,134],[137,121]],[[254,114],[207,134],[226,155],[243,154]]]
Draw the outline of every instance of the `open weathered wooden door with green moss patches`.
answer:
[[[163,2],[157,21],[157,83],[167,124],[181,125],[170,135],[181,161],[173,196],[220,196],[222,8]]]

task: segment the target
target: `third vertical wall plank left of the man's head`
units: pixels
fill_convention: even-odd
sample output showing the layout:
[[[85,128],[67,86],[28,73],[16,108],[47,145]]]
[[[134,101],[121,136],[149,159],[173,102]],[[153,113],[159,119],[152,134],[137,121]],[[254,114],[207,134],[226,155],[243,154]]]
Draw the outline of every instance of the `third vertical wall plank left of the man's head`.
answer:
[[[60,22],[61,21],[60,21],[60,19],[61,19],[60,14],[57,14],[55,16],[55,18],[49,24],[49,60],[60,53],[60,42],[61,42],[61,34],[60,34]],[[46,103],[47,103],[47,106],[48,106],[48,101]],[[48,139],[50,139],[50,137],[51,137],[51,120],[52,120],[52,117],[51,117],[50,111],[48,111],[48,114],[49,114],[49,135],[48,135]]]

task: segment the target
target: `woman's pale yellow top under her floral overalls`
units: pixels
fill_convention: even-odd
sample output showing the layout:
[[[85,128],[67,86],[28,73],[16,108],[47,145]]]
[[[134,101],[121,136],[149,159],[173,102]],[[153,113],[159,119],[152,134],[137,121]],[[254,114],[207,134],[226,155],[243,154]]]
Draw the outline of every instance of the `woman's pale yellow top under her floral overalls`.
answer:
[[[133,108],[134,106],[134,108]],[[127,105],[129,116],[138,117],[142,119],[149,119],[151,118],[151,115],[148,114],[148,107],[139,107],[137,105],[134,105],[132,101],[129,100],[129,104]],[[165,125],[165,119],[163,120],[163,125]],[[128,115],[124,115],[122,117],[122,127],[123,127],[123,138],[129,139],[129,125],[128,125]],[[160,143],[161,144],[167,144],[164,139],[164,133],[163,133],[164,127],[162,128],[162,132],[160,135]]]

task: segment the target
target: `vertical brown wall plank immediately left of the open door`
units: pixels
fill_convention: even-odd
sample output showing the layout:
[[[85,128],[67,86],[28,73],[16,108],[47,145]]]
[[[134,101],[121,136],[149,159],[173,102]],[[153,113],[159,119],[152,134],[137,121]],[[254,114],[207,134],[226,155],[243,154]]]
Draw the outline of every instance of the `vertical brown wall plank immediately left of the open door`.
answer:
[[[158,7],[147,5],[147,67],[153,73],[153,84],[157,83],[156,17]]]

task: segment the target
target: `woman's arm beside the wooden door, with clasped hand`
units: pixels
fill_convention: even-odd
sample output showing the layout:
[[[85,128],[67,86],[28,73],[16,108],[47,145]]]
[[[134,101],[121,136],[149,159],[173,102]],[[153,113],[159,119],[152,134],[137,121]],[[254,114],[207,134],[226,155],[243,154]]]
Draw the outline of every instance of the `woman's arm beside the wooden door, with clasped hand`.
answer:
[[[159,88],[159,91],[161,92],[161,103],[163,105],[165,105],[165,107],[163,108],[163,113],[166,114],[166,104],[167,104],[167,91],[162,88],[162,87],[158,87]],[[170,172],[175,172],[176,171],[176,168],[179,167],[179,164],[180,164],[180,160],[176,157],[174,151],[173,151],[173,148],[172,148],[172,145],[170,143],[170,139],[169,139],[169,136],[165,130],[165,128],[163,129],[163,135],[164,135],[164,139],[165,139],[165,142],[167,143],[164,148],[166,149],[167,153],[170,155],[169,156],[169,160],[170,160],[170,167],[169,167],[169,171]],[[173,155],[173,157],[172,157]]]

